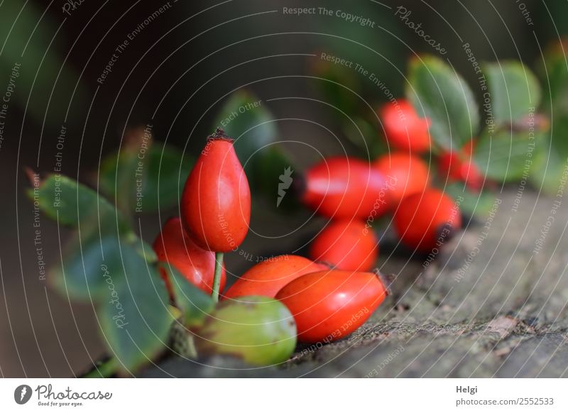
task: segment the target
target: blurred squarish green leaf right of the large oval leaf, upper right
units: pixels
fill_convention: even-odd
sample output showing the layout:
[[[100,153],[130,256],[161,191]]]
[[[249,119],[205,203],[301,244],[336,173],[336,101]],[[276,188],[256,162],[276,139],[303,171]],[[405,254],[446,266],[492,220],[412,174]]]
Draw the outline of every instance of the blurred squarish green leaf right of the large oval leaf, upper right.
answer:
[[[497,126],[510,126],[534,112],[541,91],[535,75],[521,62],[487,63],[483,70],[491,93],[491,109]]]

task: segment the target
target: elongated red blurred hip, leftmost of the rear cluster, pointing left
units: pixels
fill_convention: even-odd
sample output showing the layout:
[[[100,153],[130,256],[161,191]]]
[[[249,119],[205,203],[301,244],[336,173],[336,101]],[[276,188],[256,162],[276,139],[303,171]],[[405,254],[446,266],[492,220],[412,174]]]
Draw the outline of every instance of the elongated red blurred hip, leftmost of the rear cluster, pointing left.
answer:
[[[349,157],[332,157],[307,170],[306,189],[302,201],[318,214],[328,218],[367,219],[386,213],[386,207],[377,202],[386,191],[381,172],[367,162]]]

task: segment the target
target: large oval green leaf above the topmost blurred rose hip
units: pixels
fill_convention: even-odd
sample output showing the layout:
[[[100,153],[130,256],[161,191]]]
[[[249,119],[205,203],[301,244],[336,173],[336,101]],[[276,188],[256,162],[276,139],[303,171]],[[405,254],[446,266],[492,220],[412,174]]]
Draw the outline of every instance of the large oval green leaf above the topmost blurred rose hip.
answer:
[[[468,85],[437,57],[410,62],[408,99],[420,116],[430,119],[430,133],[442,148],[461,148],[476,136],[479,112]]]

